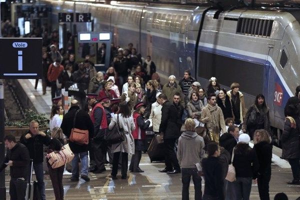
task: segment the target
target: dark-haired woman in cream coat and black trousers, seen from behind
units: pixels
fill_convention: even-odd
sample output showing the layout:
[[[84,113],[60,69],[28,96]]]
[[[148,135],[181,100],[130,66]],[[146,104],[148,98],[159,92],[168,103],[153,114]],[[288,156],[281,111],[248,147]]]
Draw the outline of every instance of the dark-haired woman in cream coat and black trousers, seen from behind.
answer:
[[[122,128],[124,130],[125,140],[120,143],[112,144],[111,146],[113,152],[111,178],[116,179],[118,160],[120,153],[122,153],[121,178],[126,179],[128,168],[128,153],[134,154],[134,139],[131,135],[131,132],[135,129],[133,117],[131,115],[131,109],[126,102],[120,102],[118,114],[113,115],[108,125],[108,129],[111,130],[116,124],[119,124],[119,128]]]

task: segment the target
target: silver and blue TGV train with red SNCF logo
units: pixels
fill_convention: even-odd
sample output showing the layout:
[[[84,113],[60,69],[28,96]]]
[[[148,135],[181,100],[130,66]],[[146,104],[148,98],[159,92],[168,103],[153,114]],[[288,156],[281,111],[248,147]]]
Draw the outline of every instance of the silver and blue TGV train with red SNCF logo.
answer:
[[[111,31],[120,46],[129,42],[151,55],[162,82],[185,69],[205,88],[215,76],[229,88],[239,82],[246,105],[262,93],[271,125],[282,129],[283,108],[300,85],[300,9],[238,8],[117,1],[43,0],[58,12],[91,12],[94,31]],[[57,26],[56,26],[57,27]],[[78,31],[88,25],[77,23]],[[276,133],[276,132],[275,132]]]

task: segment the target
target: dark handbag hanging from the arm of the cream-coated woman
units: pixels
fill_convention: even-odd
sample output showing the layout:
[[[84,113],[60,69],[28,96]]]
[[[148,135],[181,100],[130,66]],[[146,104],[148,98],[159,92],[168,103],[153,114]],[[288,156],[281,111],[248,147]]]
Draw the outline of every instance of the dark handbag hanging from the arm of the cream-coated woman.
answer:
[[[116,124],[113,126],[111,130],[108,129],[108,131],[106,131],[104,134],[104,139],[110,144],[120,143],[125,140],[124,130],[119,126],[118,114],[116,116],[117,116]]]

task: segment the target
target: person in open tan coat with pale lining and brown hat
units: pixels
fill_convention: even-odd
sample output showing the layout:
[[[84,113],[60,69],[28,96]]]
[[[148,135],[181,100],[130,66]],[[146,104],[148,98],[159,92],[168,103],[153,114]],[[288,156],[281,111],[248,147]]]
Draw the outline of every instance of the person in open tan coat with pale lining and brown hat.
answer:
[[[230,88],[231,90],[227,91],[227,95],[232,101],[232,110],[235,117],[234,123],[240,124],[243,122],[243,118],[245,118],[247,112],[243,94],[239,91],[239,84],[237,82],[232,82]]]

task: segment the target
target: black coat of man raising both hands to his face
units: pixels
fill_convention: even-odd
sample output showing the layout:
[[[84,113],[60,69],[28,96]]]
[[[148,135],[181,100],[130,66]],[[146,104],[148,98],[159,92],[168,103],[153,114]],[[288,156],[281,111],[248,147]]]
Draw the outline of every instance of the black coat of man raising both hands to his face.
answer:
[[[31,137],[28,139],[25,138],[27,133],[31,134]],[[51,139],[48,135],[33,135],[30,130],[23,133],[20,137],[20,143],[24,144],[28,148],[30,158],[33,159],[34,164],[41,163],[43,161],[43,145],[49,145],[50,140]]]

